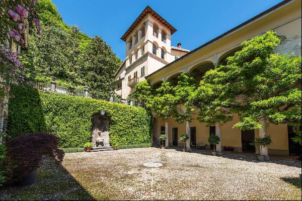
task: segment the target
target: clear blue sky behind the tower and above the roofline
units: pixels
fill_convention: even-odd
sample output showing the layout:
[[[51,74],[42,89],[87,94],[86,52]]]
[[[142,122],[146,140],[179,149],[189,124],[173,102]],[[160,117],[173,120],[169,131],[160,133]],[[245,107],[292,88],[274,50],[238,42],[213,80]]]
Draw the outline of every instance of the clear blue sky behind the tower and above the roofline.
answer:
[[[120,38],[142,10],[149,5],[177,29],[171,45],[193,50],[281,0],[52,0],[67,25],[101,36],[113,52],[125,59],[125,42]]]

